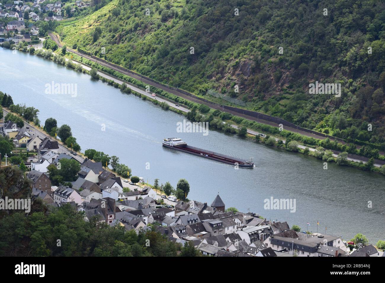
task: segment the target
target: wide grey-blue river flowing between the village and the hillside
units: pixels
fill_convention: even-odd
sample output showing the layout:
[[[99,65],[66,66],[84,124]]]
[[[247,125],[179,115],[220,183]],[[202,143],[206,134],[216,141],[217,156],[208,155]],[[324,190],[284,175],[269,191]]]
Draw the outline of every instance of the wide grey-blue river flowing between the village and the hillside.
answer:
[[[77,84],[77,96],[45,94],[45,84]],[[237,136],[209,131],[178,133],[184,116],[165,111],[134,95],[122,94],[89,75],[23,52],[0,48],[0,91],[39,109],[39,118],[54,117],[69,124],[82,151],[94,148],[120,161],[132,173],[159,178],[176,187],[179,179],[190,184],[189,199],[211,204],[220,194],[226,207],[259,213],[271,220],[288,221],[350,239],[357,233],[371,243],[385,240],[385,177],[349,167],[256,144]],[[105,131],[103,128],[105,126]],[[254,168],[234,169],[202,157],[162,147],[165,137],[181,137],[191,146],[238,156],[254,157]],[[147,163],[148,162],[148,163]],[[149,169],[146,169],[149,165]],[[147,166],[148,167],[148,166]],[[264,209],[264,200],[295,199],[295,212]],[[368,202],[372,208],[368,208]],[[292,210],[294,211],[294,210]],[[307,226],[310,223],[310,226]]]

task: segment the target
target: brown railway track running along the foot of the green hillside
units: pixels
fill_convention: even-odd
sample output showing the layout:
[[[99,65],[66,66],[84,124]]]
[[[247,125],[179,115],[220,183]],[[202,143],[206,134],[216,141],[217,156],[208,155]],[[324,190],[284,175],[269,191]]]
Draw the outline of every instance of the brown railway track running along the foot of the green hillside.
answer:
[[[52,40],[54,40],[54,42],[55,42],[60,48],[63,47],[63,45],[60,43],[60,40],[59,40],[59,38],[57,37],[57,35],[55,35],[55,34],[52,33],[52,32],[49,32],[48,35],[49,35],[49,37],[50,37]],[[206,102],[206,101],[200,100],[200,99],[198,99],[198,98],[196,98],[196,97],[186,95],[186,94],[184,94],[184,93],[182,93],[182,92],[180,92],[180,91],[177,91],[177,90],[174,90],[174,89],[170,89],[170,88],[168,88],[168,87],[165,87],[165,86],[162,85],[162,84],[159,84],[159,83],[153,82],[153,81],[151,81],[151,80],[148,80],[148,79],[146,79],[146,77],[143,77],[142,75],[137,74],[137,73],[135,73],[135,72],[133,72],[133,71],[127,72],[127,71],[125,71],[125,70],[122,70],[121,67],[119,67],[119,66],[117,66],[117,65],[115,65],[115,64],[105,63],[105,62],[103,62],[103,61],[101,61],[101,60],[97,60],[97,59],[95,59],[95,58],[93,58],[93,57],[90,57],[90,56],[87,55],[87,54],[80,53],[80,52],[78,52],[78,51],[76,51],[76,50],[73,50],[73,49],[70,49],[70,48],[68,48],[68,47],[67,47],[67,51],[72,52],[72,53],[74,53],[74,54],[76,54],[76,55],[79,55],[79,56],[81,56],[81,57],[84,57],[84,58],[86,58],[86,59],[89,59],[89,60],[91,60],[91,61],[93,61],[93,62],[96,62],[96,63],[98,63],[98,64],[100,64],[100,65],[102,65],[102,66],[104,66],[104,67],[108,67],[108,68],[110,68],[110,69],[112,69],[112,70],[115,70],[115,71],[117,71],[117,72],[120,72],[120,73],[122,73],[122,74],[124,74],[124,75],[128,75],[128,76],[130,76],[130,77],[132,77],[132,78],[134,78],[134,79],[140,80],[141,82],[144,82],[144,83],[146,83],[146,84],[148,84],[148,85],[152,85],[152,86],[154,86],[154,87],[157,87],[158,89],[165,90],[165,91],[167,91],[167,92],[169,92],[169,93],[171,93],[171,94],[177,95],[177,96],[182,97],[182,98],[184,98],[184,99],[186,99],[186,100],[190,100],[190,101],[192,101],[192,102],[196,102],[196,103],[199,103],[199,104],[205,104],[205,105],[209,106],[210,108],[217,109],[217,110],[220,110],[220,111],[222,111],[222,112],[227,112],[227,113],[229,113],[229,114],[231,114],[231,115],[238,116],[238,117],[242,117],[242,118],[245,118],[245,119],[250,120],[250,121],[255,121],[255,122],[258,122],[258,123],[261,123],[261,124],[266,124],[266,125],[273,126],[273,127],[278,127],[278,125],[277,125],[276,123],[274,123],[274,122],[266,121],[266,120],[263,120],[263,119],[258,119],[258,118],[255,118],[255,117],[253,117],[253,116],[249,116],[249,115],[246,115],[246,114],[241,114],[241,113],[239,113],[239,112],[231,111],[231,110],[229,110],[229,109],[224,109],[224,108],[221,107],[220,105],[211,104],[211,103],[208,103],[208,102]],[[314,134],[314,133],[305,132],[305,131],[301,131],[301,130],[296,129],[296,128],[293,128],[293,127],[285,126],[285,130],[290,131],[290,132],[295,132],[295,133],[301,134],[301,135],[303,135],[303,136],[313,137],[313,138],[315,138],[315,139],[325,139],[324,136],[317,135],[317,134]],[[334,141],[334,139],[330,139],[330,140],[331,140],[331,141]],[[341,141],[339,141],[339,142],[341,142]],[[341,143],[342,143],[342,144],[346,144],[346,142],[341,142]],[[356,146],[356,147],[357,147],[358,149],[361,148],[361,146]],[[385,154],[385,153],[384,153],[384,152],[380,152],[380,154]]]

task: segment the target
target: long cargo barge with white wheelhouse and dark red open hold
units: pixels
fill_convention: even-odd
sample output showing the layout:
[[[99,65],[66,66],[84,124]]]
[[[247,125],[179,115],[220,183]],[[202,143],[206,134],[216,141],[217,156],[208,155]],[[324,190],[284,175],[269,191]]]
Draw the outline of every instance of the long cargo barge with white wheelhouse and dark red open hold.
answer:
[[[167,139],[164,139],[162,142],[162,145],[164,147],[168,147],[171,149],[175,149],[177,151],[183,151],[190,154],[202,156],[205,158],[213,159],[215,161],[223,162],[230,165],[237,165],[238,167],[254,167],[254,162],[239,159],[237,157],[228,156],[224,154],[220,154],[218,152],[213,151],[207,151],[205,149],[201,149],[198,147],[188,146],[186,142],[182,141],[182,139],[176,138],[176,137],[170,137]]]

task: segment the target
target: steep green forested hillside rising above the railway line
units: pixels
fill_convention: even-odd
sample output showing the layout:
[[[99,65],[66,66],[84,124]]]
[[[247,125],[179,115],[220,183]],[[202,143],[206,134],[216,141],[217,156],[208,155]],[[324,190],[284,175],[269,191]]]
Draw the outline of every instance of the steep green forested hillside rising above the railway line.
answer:
[[[384,7],[372,0],[112,0],[56,31],[69,47],[208,99],[224,95],[303,127],[377,143],[385,132]],[[341,83],[341,97],[309,94],[315,81]]]

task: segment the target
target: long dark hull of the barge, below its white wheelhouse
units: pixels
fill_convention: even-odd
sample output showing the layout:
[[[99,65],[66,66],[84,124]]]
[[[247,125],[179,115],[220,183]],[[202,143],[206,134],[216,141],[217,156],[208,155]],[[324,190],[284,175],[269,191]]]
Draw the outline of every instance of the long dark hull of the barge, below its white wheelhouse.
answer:
[[[167,146],[166,144],[162,144],[162,145],[170,149],[175,149],[177,151],[194,154],[196,156],[202,156],[208,159],[212,159],[215,161],[219,161],[219,162],[234,165],[234,166],[236,165],[236,163],[238,163],[238,167],[254,167],[253,164],[246,163],[246,160],[236,159],[235,157],[232,157],[232,156],[220,154],[214,151],[207,151],[194,146]]]

